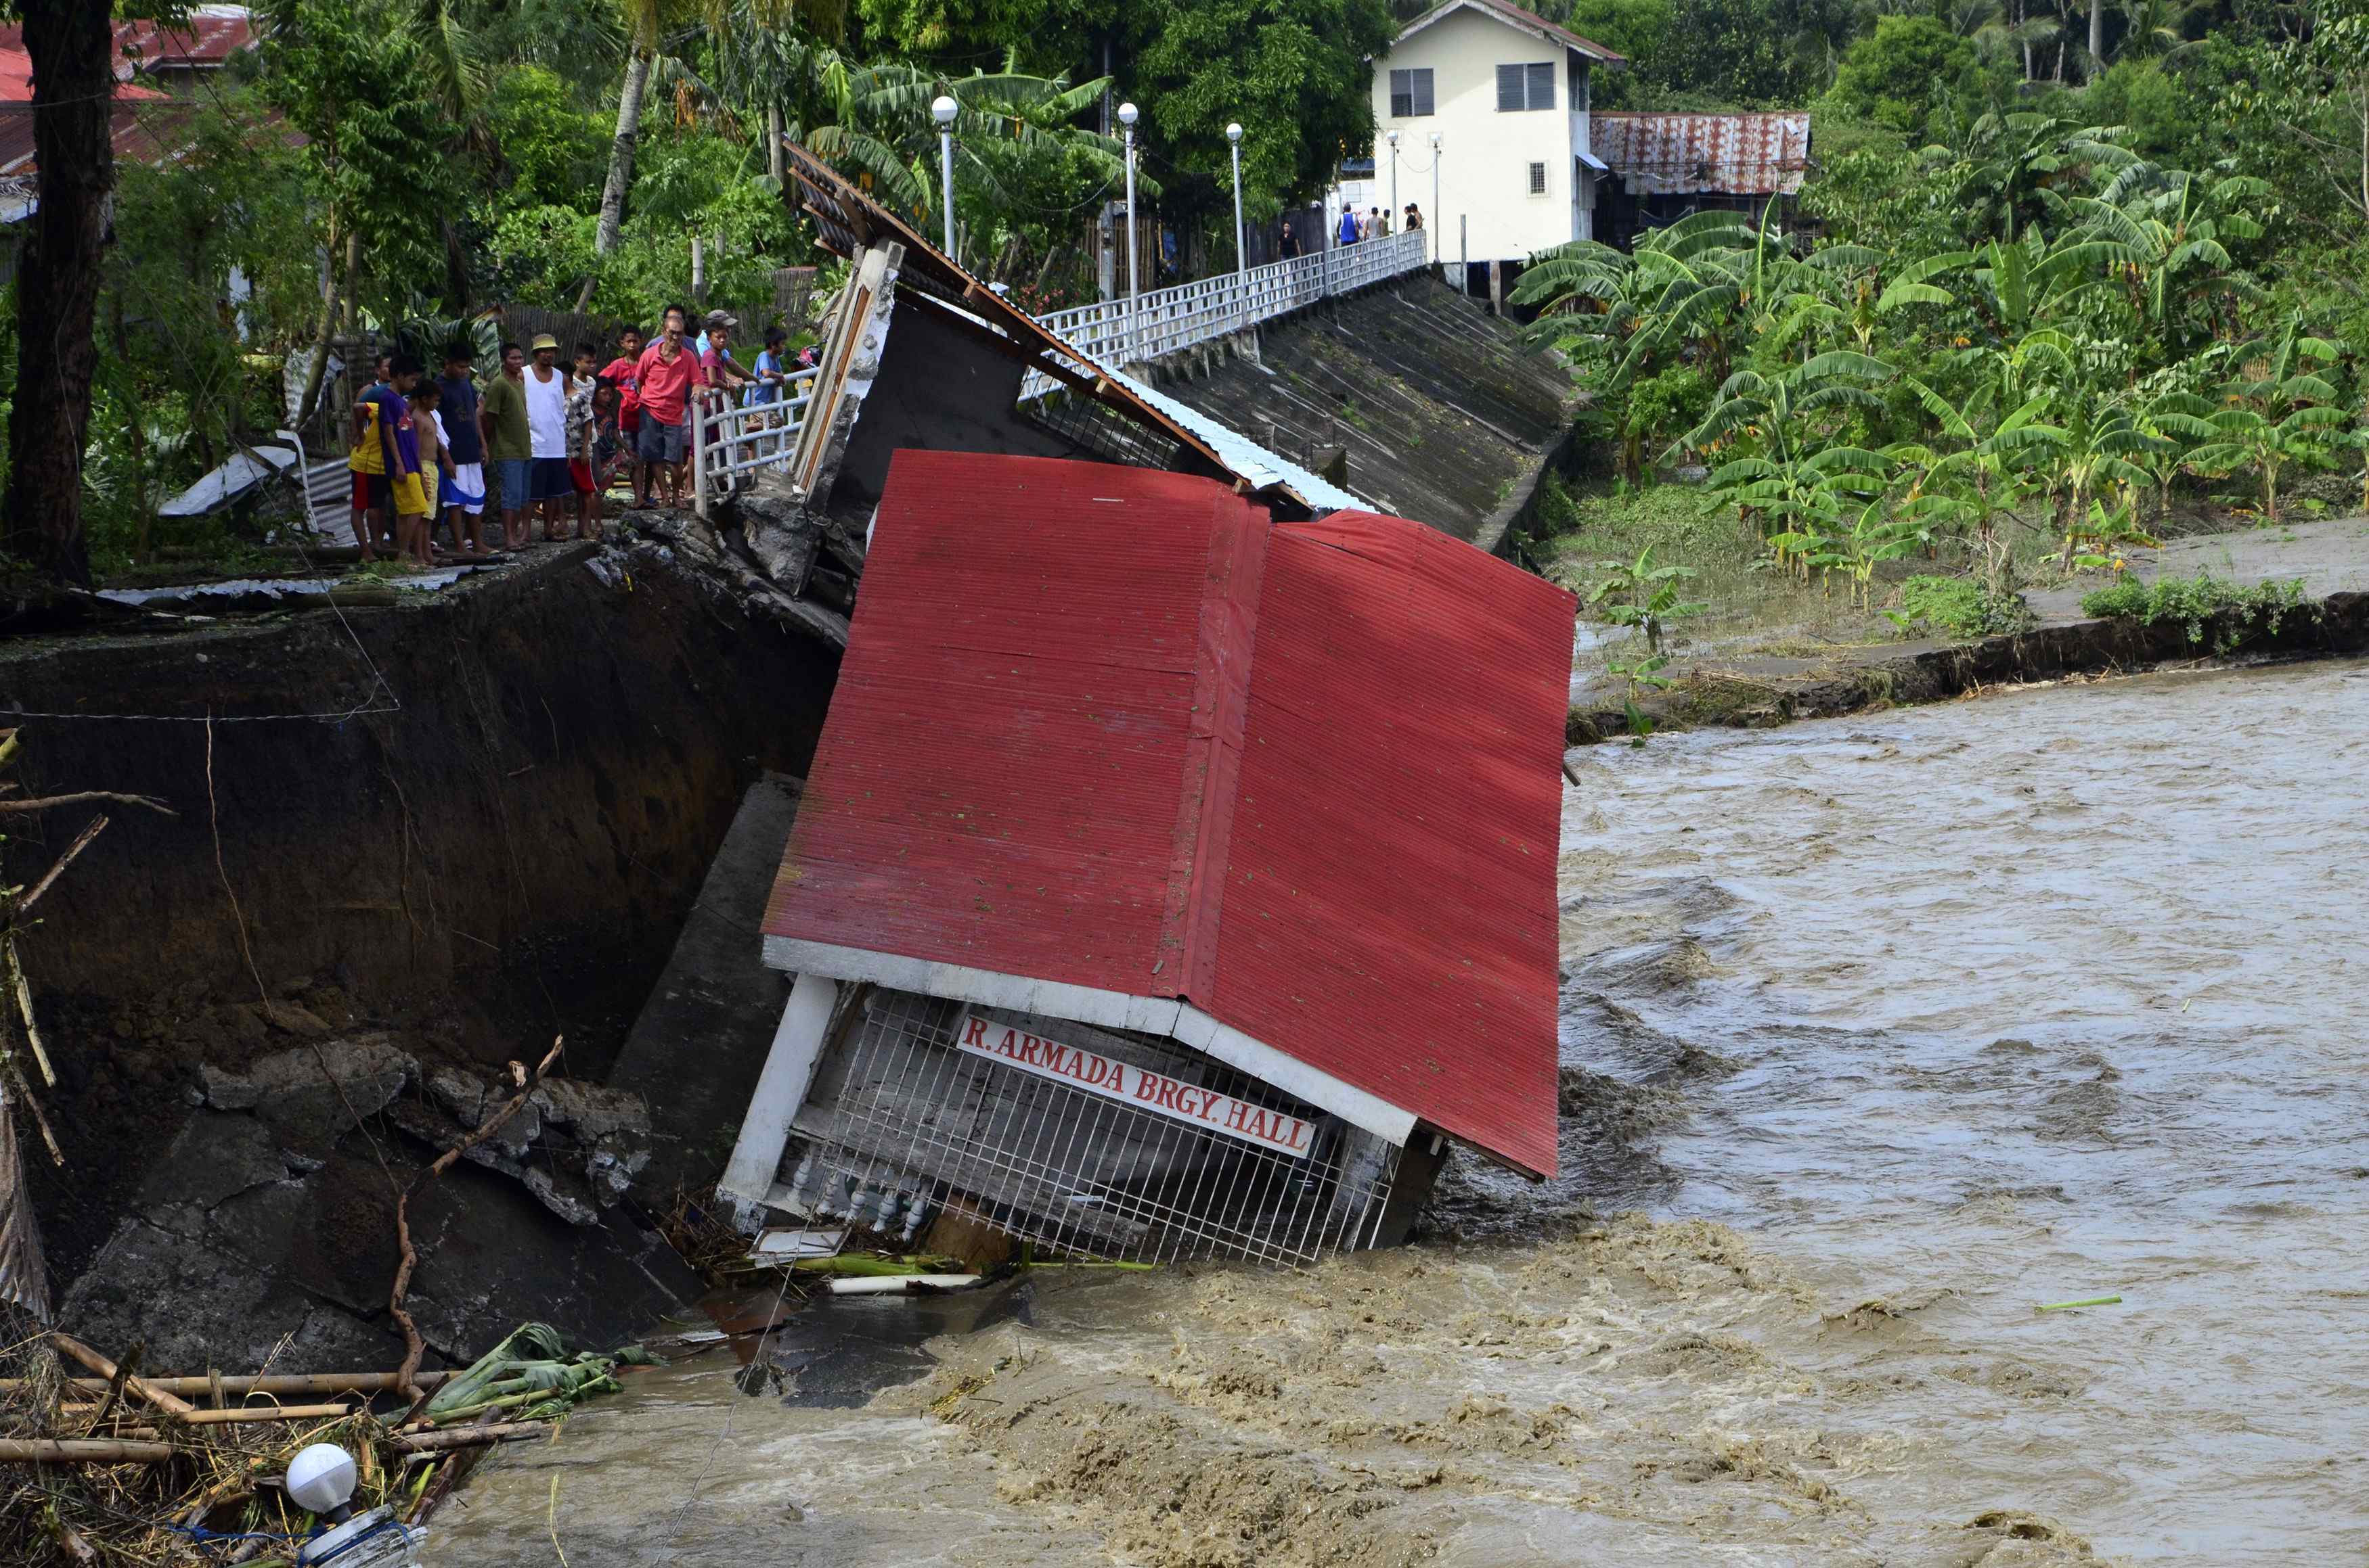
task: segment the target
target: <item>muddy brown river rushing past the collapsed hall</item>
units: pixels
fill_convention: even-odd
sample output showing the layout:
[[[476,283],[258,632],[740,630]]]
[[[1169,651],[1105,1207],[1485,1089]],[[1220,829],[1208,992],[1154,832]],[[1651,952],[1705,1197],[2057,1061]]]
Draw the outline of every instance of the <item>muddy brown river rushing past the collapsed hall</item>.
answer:
[[[1561,1180],[808,1312],[505,1450],[431,1561],[2364,1561],[2369,666],[1578,770]]]

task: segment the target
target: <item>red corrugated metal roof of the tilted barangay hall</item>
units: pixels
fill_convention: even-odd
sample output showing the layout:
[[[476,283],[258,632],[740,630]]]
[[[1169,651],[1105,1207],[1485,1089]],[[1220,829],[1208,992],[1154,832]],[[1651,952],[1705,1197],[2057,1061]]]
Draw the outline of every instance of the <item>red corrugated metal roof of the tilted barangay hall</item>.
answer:
[[[1571,613],[1395,516],[898,452],[765,933],[1184,997],[1552,1172]]]

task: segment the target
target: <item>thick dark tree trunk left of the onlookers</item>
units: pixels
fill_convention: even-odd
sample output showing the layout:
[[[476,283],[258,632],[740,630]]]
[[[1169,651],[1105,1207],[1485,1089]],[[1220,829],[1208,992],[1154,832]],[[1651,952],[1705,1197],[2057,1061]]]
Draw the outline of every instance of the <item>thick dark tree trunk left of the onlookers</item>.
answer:
[[[97,346],[90,317],[116,182],[114,24],[90,0],[21,0],[33,62],[40,208],[17,268],[17,396],[9,415],[7,547],[69,583],[90,583],[83,542],[83,436]]]

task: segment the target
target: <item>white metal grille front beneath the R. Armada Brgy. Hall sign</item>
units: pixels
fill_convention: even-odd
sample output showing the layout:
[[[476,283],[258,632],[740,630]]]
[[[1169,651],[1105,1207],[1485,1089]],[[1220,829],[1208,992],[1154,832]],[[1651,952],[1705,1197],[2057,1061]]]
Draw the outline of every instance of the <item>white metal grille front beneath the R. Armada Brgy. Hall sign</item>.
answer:
[[[967,1014],[1090,1054],[1097,1073],[1125,1063],[1246,1116],[1308,1123],[1305,1151],[1092,1092],[1090,1075],[957,1049]],[[808,1220],[919,1244],[952,1210],[1064,1253],[1144,1262],[1315,1262],[1372,1246],[1398,1170],[1383,1139],[1173,1040],[898,990],[865,992],[834,1023],[791,1132],[782,1196]]]

